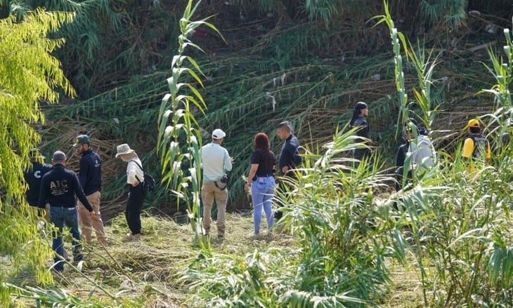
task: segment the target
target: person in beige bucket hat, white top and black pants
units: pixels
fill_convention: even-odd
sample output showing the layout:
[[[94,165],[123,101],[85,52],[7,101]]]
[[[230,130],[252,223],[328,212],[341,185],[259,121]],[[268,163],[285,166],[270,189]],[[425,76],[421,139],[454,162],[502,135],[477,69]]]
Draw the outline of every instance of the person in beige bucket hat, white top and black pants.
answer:
[[[116,158],[126,161],[126,183],[129,185],[129,198],[126,202],[125,217],[130,233],[126,234],[132,241],[141,241],[141,209],[144,200],[144,171],[141,159],[134,149],[126,143],[117,146]]]

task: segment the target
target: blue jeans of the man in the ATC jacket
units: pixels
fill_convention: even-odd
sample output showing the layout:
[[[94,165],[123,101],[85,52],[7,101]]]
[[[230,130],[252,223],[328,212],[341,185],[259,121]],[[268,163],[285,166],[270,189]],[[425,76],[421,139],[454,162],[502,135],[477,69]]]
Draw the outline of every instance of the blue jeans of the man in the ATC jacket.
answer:
[[[63,261],[63,227],[66,225],[71,228],[73,236],[73,259],[82,260],[82,245],[80,244],[79,217],[77,208],[65,208],[62,206],[50,206],[50,222],[58,228],[58,231],[52,232],[52,249],[56,253],[53,260],[56,262],[54,269],[62,271],[64,269]]]

